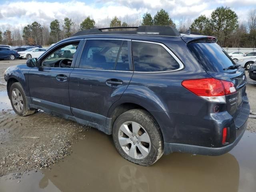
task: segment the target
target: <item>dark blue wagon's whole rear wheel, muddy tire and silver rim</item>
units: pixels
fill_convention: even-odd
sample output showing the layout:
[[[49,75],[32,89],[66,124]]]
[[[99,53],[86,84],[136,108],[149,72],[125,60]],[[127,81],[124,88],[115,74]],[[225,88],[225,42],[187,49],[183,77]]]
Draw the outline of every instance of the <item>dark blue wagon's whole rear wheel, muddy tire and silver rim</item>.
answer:
[[[112,136],[119,154],[142,166],[154,164],[164,152],[160,128],[144,110],[134,109],[121,114],[114,122]]]

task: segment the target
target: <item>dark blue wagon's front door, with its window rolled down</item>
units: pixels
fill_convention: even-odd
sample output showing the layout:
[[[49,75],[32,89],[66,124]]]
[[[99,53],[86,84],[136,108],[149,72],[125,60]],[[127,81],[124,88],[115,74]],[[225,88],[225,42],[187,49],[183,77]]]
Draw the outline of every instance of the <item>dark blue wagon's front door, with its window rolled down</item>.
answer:
[[[49,50],[38,60],[38,67],[29,71],[28,81],[32,103],[50,110],[72,115],[70,111],[68,82],[76,58],[54,57],[54,52],[66,46],[78,47],[79,41],[62,44]]]

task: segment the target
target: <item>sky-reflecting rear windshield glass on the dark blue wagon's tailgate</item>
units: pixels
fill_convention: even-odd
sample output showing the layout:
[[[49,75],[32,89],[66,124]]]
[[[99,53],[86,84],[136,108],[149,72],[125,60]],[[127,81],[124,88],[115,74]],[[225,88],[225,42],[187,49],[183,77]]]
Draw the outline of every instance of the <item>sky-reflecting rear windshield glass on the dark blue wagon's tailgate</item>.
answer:
[[[224,68],[235,65],[235,62],[216,43],[195,42],[188,44],[188,48],[206,71],[218,73],[236,71],[236,69],[224,70]]]

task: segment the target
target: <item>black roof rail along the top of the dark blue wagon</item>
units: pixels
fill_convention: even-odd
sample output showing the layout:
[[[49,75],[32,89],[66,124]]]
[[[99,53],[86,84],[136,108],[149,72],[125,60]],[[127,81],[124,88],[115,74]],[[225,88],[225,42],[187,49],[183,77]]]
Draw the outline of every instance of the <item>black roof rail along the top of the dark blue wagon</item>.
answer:
[[[127,31],[114,31],[114,29],[131,29]],[[111,30],[111,31],[102,31]],[[138,34],[138,35],[157,35],[157,36],[180,36],[178,30],[173,26],[138,26],[138,27],[109,27],[109,28],[94,28],[82,30],[72,36],[81,36],[89,34]]]

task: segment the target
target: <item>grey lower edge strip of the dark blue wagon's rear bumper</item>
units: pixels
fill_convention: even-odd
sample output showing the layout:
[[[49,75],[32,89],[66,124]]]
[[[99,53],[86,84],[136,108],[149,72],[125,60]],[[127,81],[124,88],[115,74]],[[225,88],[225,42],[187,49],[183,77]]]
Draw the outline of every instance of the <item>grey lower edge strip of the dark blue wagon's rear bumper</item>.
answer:
[[[186,144],[177,144],[177,143],[164,143],[164,154],[170,154],[172,152],[182,152],[182,153],[191,153],[191,154],[200,154],[200,155],[210,155],[210,156],[218,156],[225,154],[232,150],[236,146],[236,144],[240,141],[244,132],[246,130],[247,120],[240,129],[242,133],[236,138],[236,140],[228,144],[224,147],[220,148],[211,148],[211,147],[203,147],[203,146],[195,146],[195,145],[186,145]]]

